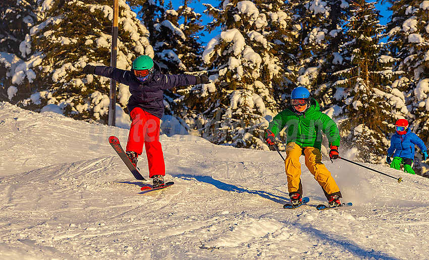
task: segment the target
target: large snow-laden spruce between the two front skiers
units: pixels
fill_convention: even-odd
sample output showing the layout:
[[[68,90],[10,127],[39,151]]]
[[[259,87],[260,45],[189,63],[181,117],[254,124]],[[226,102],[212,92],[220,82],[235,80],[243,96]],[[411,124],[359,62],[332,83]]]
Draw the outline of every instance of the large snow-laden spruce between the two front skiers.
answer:
[[[211,83],[192,89],[199,101],[188,104],[195,111],[188,114],[213,143],[268,149],[262,134],[276,109],[271,82],[281,77],[281,66],[265,38],[269,16],[262,4],[268,2],[225,1],[219,8],[205,4],[214,18],[209,28],[221,26],[222,33],[204,49]]]

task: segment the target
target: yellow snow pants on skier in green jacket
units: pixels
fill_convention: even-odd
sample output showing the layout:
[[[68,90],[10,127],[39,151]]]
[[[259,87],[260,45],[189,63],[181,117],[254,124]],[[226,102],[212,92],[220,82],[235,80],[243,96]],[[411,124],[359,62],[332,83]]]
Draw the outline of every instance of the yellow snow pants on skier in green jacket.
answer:
[[[299,183],[301,182],[301,163],[299,162],[299,157],[302,154],[302,149],[299,145],[292,142],[288,144],[286,150],[285,169],[288,179],[288,190],[291,193],[298,191]],[[314,147],[305,147],[304,155],[305,166],[314,175],[314,179],[324,189],[325,193],[340,193],[340,188],[331,176],[331,172],[321,162],[322,156],[320,151]]]

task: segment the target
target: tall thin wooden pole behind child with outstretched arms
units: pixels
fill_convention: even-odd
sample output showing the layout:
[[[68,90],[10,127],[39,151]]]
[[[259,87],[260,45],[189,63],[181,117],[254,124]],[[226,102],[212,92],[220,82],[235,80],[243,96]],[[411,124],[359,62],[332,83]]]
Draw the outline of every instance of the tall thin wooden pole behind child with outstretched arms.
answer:
[[[112,51],[110,66],[116,68],[116,59],[118,53],[118,19],[119,19],[119,0],[113,0],[113,25],[112,25]],[[109,104],[109,125],[115,126],[116,118],[116,81],[110,80],[110,104]]]

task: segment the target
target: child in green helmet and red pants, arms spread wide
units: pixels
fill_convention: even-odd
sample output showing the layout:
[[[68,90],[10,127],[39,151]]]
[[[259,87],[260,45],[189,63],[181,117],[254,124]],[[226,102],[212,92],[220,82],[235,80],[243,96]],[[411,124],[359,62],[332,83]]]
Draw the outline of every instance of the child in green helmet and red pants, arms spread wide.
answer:
[[[207,84],[208,77],[161,74],[159,65],[147,55],[134,59],[131,71],[87,64],[83,72],[111,78],[129,86],[131,96],[127,108],[132,123],[126,154],[136,166],[137,158],[142,154],[144,145],[152,186],[156,188],[164,185],[166,168],[159,142],[159,122],[164,113],[164,90],[177,86]]]

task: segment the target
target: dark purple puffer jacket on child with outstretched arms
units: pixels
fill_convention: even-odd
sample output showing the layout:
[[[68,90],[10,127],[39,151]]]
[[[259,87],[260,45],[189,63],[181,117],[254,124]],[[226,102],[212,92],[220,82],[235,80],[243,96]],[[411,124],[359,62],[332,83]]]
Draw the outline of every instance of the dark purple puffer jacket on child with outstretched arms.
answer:
[[[164,113],[164,90],[178,86],[195,85],[196,77],[185,74],[161,74],[158,63],[153,61],[153,66],[155,67],[155,72],[152,78],[145,82],[138,81],[131,71],[113,67],[96,66],[94,74],[114,79],[130,87],[131,97],[127,104],[128,112],[140,107],[144,111],[161,118]]]

